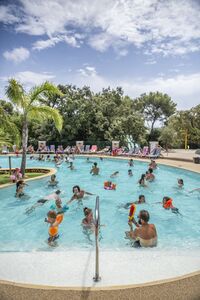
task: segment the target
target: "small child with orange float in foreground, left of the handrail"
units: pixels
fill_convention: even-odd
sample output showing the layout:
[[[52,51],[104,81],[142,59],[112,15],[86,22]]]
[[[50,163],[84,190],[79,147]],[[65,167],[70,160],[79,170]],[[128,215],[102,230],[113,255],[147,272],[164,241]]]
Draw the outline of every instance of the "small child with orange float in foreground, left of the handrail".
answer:
[[[57,221],[57,213],[54,210],[50,210],[47,213],[47,218],[45,218],[45,222],[50,224],[48,244],[52,246],[52,243],[59,238],[58,226],[60,223],[59,221]]]

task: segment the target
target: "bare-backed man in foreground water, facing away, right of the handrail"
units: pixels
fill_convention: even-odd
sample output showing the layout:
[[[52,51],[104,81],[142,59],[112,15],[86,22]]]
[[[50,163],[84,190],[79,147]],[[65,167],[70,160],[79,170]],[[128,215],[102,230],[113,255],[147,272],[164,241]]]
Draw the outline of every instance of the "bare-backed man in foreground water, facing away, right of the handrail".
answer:
[[[150,216],[147,210],[141,210],[138,223],[141,225],[134,231],[127,231],[126,236],[135,241],[134,247],[157,246],[157,232],[154,224],[148,224]]]

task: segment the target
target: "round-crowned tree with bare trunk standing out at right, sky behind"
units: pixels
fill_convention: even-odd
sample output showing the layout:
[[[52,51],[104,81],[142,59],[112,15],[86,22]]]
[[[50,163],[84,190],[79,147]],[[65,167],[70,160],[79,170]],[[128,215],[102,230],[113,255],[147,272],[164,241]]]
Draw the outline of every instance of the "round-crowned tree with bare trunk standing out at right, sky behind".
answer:
[[[167,94],[160,92],[150,92],[142,94],[135,101],[136,109],[139,109],[144,115],[144,119],[147,122],[150,133],[149,138],[153,134],[154,126],[157,121],[160,123],[166,123],[168,118],[176,111],[176,104],[171,100]]]

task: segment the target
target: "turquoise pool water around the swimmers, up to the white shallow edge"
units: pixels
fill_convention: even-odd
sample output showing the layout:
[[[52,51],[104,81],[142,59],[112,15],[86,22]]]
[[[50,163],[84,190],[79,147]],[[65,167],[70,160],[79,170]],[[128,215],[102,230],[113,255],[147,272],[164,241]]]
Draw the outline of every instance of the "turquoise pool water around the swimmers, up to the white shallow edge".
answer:
[[[130,168],[126,160],[90,158],[98,162],[100,175],[92,176],[89,171],[92,164],[86,158],[78,157],[74,161],[76,170],[70,171],[67,164],[63,163],[57,170],[58,188],[62,191],[63,203],[72,196],[72,187],[80,185],[81,189],[95,193],[100,197],[101,228],[100,246],[104,249],[130,249],[130,243],[124,238],[124,232],[129,230],[127,225],[128,210],[120,207],[126,202],[138,200],[144,194],[147,204],[138,205],[136,215],[140,209],[147,209],[150,221],[157,227],[159,249],[198,249],[200,246],[200,194],[188,191],[199,187],[200,175],[178,168],[159,165],[154,172],[156,180],[148,183],[147,188],[141,188],[137,182],[142,173],[148,168],[147,162],[134,162],[132,167],[133,177],[128,177]],[[12,158],[12,166],[19,167],[21,159]],[[0,158],[0,166],[8,167],[8,158]],[[27,160],[28,167],[54,167],[52,162],[39,162]],[[107,191],[103,188],[105,180],[110,174],[119,171],[119,176],[112,179],[117,184],[116,191]],[[177,188],[177,178],[183,178],[184,188]],[[48,238],[48,225],[44,218],[51,203],[45,203],[32,214],[26,215],[26,208],[32,206],[38,199],[52,193],[55,189],[47,185],[48,178],[29,181],[25,192],[30,196],[27,200],[14,197],[15,186],[0,190],[0,251],[39,251],[73,248],[87,248],[94,246],[94,235],[87,236],[83,233],[81,221],[83,207],[94,210],[96,196],[87,196],[83,204],[74,201],[65,213],[65,218],[59,227],[60,238],[58,247],[50,248],[46,241]],[[174,206],[178,207],[183,216],[166,211],[161,204],[163,196],[170,196]]]

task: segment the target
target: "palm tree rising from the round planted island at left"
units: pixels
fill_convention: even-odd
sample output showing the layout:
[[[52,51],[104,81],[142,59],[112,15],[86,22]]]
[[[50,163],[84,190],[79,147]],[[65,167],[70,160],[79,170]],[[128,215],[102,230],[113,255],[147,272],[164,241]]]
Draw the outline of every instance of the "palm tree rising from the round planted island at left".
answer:
[[[62,95],[53,84],[45,82],[33,87],[26,93],[23,86],[15,79],[9,80],[6,87],[6,95],[22,115],[22,162],[21,172],[24,176],[26,168],[26,151],[28,143],[28,125],[31,120],[39,122],[53,120],[58,131],[62,129],[63,119],[55,108],[44,105],[48,96],[52,94]]]

